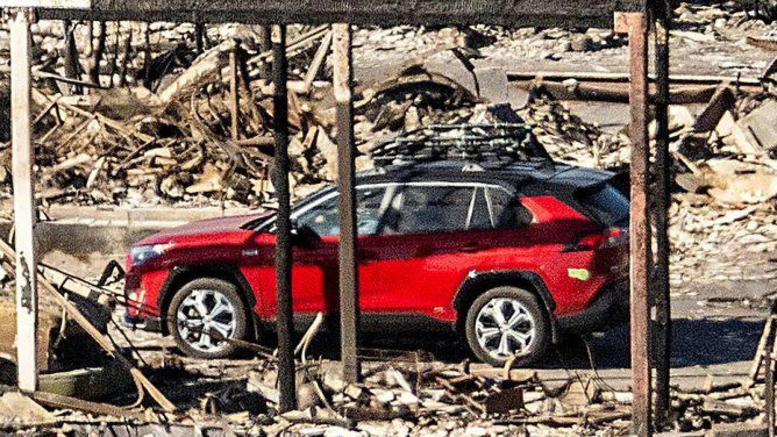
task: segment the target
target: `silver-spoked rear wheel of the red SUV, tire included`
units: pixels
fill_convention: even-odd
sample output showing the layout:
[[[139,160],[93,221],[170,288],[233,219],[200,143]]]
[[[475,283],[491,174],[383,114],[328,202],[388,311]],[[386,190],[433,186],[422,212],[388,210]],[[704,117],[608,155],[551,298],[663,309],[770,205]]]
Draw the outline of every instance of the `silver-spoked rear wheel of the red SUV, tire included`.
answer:
[[[538,297],[513,286],[500,286],[480,295],[467,311],[465,336],[469,349],[483,362],[503,366],[511,355],[514,366],[528,366],[545,355],[549,322]]]

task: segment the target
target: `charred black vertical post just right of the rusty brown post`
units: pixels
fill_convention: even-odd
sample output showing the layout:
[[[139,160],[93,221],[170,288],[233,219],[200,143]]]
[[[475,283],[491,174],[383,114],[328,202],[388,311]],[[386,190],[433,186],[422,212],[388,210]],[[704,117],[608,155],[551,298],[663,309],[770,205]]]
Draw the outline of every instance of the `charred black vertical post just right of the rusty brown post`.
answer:
[[[657,2],[656,24],[656,258],[653,285],[656,297],[656,423],[667,425],[671,408],[669,372],[671,369],[671,304],[669,286],[669,20],[667,5]],[[668,9],[671,10],[671,9]]]

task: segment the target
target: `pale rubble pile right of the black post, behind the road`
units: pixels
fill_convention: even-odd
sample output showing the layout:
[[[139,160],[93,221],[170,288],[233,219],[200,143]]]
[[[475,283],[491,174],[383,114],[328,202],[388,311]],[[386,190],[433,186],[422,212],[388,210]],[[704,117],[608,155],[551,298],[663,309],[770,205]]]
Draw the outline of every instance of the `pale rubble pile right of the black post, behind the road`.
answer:
[[[685,191],[670,210],[674,286],[777,279],[763,255],[777,248],[775,105],[723,86],[695,116],[671,107],[672,170]]]

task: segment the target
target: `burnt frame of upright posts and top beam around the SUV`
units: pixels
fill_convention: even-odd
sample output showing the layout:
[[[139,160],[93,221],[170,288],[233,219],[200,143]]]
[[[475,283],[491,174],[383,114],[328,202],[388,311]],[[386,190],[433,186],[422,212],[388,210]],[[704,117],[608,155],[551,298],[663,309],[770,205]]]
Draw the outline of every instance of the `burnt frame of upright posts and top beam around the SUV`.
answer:
[[[666,0],[668,2],[668,0]],[[37,388],[35,367],[35,325],[37,320],[35,227],[33,186],[33,150],[30,138],[30,8],[41,19],[141,20],[176,22],[240,22],[273,24],[274,48],[274,131],[275,182],[279,199],[280,226],[277,234],[277,277],[279,318],[280,409],[295,406],[294,360],[291,345],[291,223],[286,172],[287,98],[285,61],[285,24],[348,23],[334,26],[334,83],[337,102],[338,186],[340,190],[340,315],[342,324],[343,374],[347,380],[359,377],[356,355],[358,326],[358,276],[354,209],[354,110],[353,59],[350,24],[391,26],[424,24],[460,26],[462,23],[486,23],[501,26],[611,27],[629,33],[629,101],[631,105],[631,342],[634,401],[632,431],[650,435],[651,366],[650,308],[657,307],[660,344],[657,354],[657,422],[668,414],[668,130],[667,105],[668,26],[671,7],[664,0],[418,0],[386,2],[369,0],[0,0],[0,7],[20,8],[11,24],[12,53],[12,151],[14,210],[16,224],[16,284],[18,309],[19,388],[31,392]],[[626,12],[626,13],[621,13]],[[657,72],[657,171],[656,209],[653,220],[657,229],[658,251],[655,264],[651,250],[650,211],[648,210],[648,137],[647,137],[647,36],[648,17],[656,41]],[[285,182],[284,182],[285,181]],[[653,284],[649,299],[649,279]]]

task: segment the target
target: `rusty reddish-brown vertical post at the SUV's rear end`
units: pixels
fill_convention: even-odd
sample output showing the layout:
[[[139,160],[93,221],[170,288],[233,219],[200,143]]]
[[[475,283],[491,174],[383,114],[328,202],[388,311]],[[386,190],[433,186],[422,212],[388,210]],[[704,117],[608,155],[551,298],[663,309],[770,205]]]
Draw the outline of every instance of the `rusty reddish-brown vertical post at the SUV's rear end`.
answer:
[[[629,105],[631,106],[631,362],[632,434],[650,429],[650,220],[647,208],[647,23],[643,12],[619,16],[629,31]]]

